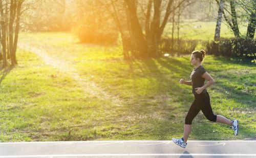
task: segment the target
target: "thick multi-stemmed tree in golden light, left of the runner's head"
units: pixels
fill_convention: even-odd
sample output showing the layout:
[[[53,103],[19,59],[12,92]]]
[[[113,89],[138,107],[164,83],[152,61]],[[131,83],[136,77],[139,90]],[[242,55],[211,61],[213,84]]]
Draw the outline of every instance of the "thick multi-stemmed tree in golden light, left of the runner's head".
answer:
[[[161,54],[158,51],[158,47],[161,41],[162,33],[164,31],[164,28],[167,24],[167,21],[169,19],[170,14],[173,12],[173,10],[176,10],[179,8],[183,3],[189,2],[186,0],[179,1],[176,6],[174,6],[174,1],[147,1],[146,9],[143,10],[142,15],[144,15],[145,20],[138,21],[138,15],[137,15],[137,9],[136,7],[136,1],[126,1],[127,3],[127,9],[129,10],[129,13],[127,16],[130,18],[131,23],[131,30],[132,30],[132,36],[133,39],[137,39],[137,43],[139,42],[139,47],[143,47],[143,49],[138,48],[137,45],[135,48],[137,48],[138,56],[139,57],[159,57]],[[139,4],[139,2],[137,1]],[[132,6],[132,7],[131,7]],[[137,5],[138,6],[138,5]],[[136,24],[135,24],[136,23]],[[144,32],[143,28],[140,26],[144,26]],[[134,31],[133,31],[134,29]],[[136,31],[135,31],[136,30]],[[144,37],[144,38],[142,38]],[[142,43],[142,44],[141,44]]]

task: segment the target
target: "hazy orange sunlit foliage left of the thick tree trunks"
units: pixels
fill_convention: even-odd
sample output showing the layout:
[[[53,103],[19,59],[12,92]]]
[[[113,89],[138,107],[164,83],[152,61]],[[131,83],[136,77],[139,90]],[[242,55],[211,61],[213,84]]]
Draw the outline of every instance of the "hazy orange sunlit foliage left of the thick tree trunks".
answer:
[[[83,43],[113,44],[118,39],[115,18],[111,18],[107,7],[111,1],[76,1],[75,33]]]

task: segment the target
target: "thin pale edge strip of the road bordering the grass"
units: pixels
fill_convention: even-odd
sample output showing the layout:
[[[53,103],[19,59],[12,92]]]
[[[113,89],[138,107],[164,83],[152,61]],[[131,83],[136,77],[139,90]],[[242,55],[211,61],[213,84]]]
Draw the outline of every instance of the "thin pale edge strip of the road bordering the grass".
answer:
[[[121,141],[121,140],[120,140]],[[170,141],[170,140],[169,140]],[[123,143],[125,142],[169,142],[169,141],[121,141]],[[68,141],[67,143],[110,143],[110,142],[117,142],[117,141]],[[245,140],[234,140],[234,141],[187,141],[187,142],[247,142],[247,143],[252,143],[256,141],[245,141]],[[0,143],[1,144],[47,144],[47,143],[66,143],[66,142],[6,142],[6,143]]]

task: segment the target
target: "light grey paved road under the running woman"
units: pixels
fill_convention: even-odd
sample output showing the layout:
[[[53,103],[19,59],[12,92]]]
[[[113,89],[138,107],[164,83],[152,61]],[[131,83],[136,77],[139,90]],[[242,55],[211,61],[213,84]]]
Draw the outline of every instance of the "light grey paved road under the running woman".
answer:
[[[2,157],[256,157],[256,141],[86,141],[0,143]]]

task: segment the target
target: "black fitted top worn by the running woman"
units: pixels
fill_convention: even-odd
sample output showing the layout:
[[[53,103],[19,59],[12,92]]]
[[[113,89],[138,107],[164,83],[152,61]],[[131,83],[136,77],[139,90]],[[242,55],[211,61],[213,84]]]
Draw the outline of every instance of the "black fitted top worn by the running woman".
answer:
[[[192,93],[194,95],[198,95],[196,93],[198,87],[204,86],[205,78],[202,77],[202,75],[206,72],[204,67],[202,65],[198,66],[197,69],[194,67],[193,71],[191,72],[190,79],[192,81]],[[207,90],[204,89],[201,94],[206,93]]]

